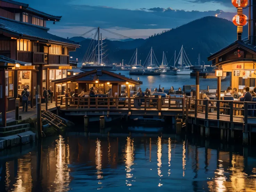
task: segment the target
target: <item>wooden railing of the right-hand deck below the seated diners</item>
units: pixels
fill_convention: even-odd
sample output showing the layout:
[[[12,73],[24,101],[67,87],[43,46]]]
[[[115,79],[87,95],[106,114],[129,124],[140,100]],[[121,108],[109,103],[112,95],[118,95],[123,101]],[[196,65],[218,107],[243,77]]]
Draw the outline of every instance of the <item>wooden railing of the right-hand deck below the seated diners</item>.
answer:
[[[203,119],[242,121],[244,124],[255,123],[256,102],[190,99],[187,102],[186,114]]]

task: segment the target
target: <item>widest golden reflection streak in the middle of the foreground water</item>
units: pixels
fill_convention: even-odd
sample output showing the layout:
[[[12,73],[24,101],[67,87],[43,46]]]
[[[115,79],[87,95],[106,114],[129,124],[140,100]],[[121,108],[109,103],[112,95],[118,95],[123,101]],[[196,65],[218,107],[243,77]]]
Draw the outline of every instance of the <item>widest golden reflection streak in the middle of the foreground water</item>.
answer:
[[[134,161],[134,141],[130,137],[127,137],[126,139],[126,146],[125,146],[125,167],[126,167],[126,178],[130,179],[133,178],[133,174],[131,174],[131,171],[133,170],[131,168]],[[131,186],[131,181],[128,181],[126,179],[126,185]]]

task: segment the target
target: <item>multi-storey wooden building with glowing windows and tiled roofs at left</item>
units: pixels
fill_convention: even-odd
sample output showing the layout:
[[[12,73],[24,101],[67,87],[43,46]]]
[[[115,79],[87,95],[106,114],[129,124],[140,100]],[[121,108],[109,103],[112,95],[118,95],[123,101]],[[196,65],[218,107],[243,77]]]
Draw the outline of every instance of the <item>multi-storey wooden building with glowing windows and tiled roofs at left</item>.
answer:
[[[51,81],[67,77],[71,69],[69,51],[79,47],[76,42],[48,33],[47,21],[60,19],[25,3],[0,0],[0,55],[7,61],[0,62],[2,113],[15,108],[14,98],[24,88],[31,93],[31,107],[35,95],[42,95],[43,87],[55,97]],[[16,64],[9,65],[8,58]]]

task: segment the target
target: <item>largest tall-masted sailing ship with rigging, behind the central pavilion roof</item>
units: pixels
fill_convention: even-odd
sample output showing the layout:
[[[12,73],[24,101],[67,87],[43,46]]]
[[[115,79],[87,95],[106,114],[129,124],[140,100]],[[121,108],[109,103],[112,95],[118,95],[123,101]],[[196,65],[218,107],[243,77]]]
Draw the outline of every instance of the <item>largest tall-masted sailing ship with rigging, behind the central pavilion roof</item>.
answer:
[[[97,35],[98,35],[98,38],[96,38]],[[97,45],[95,46],[94,44],[96,43]],[[105,55],[107,50],[103,52],[104,47],[103,47],[102,34],[99,32],[99,27],[98,27],[98,30],[95,33],[94,38],[91,39],[91,42],[88,46],[85,56],[83,57],[81,71],[89,71],[94,69],[113,70],[113,66],[108,66],[103,63],[103,59],[107,56]]]

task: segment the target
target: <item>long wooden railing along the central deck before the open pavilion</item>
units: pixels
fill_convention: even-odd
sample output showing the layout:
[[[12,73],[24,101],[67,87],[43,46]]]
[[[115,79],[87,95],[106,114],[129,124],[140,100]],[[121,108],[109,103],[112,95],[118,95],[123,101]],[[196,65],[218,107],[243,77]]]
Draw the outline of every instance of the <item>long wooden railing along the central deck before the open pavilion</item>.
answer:
[[[64,105],[65,109],[140,109],[140,110],[180,110],[185,112],[185,97],[65,97],[57,96],[56,106]],[[183,114],[184,115],[184,114]]]

